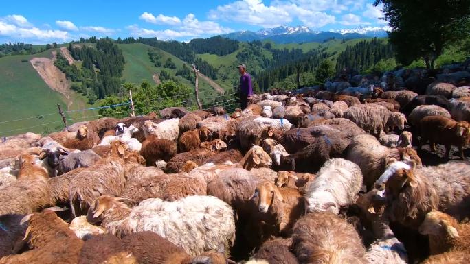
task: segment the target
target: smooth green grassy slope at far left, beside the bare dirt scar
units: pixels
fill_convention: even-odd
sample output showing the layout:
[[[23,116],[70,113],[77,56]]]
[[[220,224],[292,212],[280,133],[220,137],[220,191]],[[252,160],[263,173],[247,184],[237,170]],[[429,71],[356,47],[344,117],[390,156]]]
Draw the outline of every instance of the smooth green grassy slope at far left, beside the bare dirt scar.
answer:
[[[0,136],[9,136],[23,132],[45,132],[57,130],[63,126],[58,112],[57,104],[63,108],[66,106],[65,99],[60,93],[54,92],[45,84],[32,67],[30,60],[34,57],[51,58],[51,51],[44,51],[33,55],[5,56],[0,58],[0,122],[25,119],[54,113],[40,118],[25,119],[21,121],[0,123]],[[22,61],[23,60],[23,61]],[[72,93],[71,99],[74,101],[70,110],[86,108],[86,99],[76,93]],[[67,110],[67,109],[63,109]],[[87,113],[92,115],[93,113]],[[67,118],[83,117],[83,113],[67,115]],[[77,119],[78,120],[78,119]],[[80,120],[78,120],[80,121]],[[43,123],[52,123],[41,125]],[[32,126],[39,127],[26,129]],[[21,129],[21,130],[19,130]],[[14,130],[12,132],[7,132]]]

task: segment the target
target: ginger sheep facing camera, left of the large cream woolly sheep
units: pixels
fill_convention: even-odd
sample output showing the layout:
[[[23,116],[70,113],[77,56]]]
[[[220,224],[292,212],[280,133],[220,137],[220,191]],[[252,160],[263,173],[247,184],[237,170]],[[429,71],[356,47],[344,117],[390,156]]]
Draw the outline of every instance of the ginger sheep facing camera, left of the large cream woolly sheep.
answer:
[[[278,188],[273,182],[263,181],[249,200],[258,197],[257,207],[260,213],[272,215],[276,219],[276,228],[282,235],[290,235],[293,224],[305,211],[305,200],[298,189]]]

